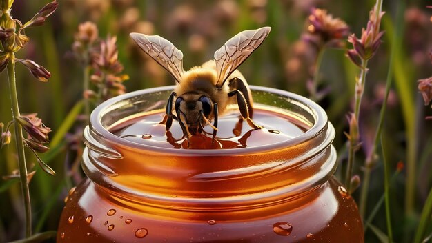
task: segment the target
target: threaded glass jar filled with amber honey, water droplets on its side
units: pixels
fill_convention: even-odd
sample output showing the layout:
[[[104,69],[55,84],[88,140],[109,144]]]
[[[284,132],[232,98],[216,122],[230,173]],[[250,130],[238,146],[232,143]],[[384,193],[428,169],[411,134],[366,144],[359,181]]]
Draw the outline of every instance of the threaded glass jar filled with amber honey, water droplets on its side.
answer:
[[[307,129],[223,150],[137,144],[109,129],[164,109],[173,86],[98,106],[84,131],[87,175],[68,195],[57,242],[364,242],[357,206],[333,173],[335,130],[313,101],[251,86],[254,107]]]

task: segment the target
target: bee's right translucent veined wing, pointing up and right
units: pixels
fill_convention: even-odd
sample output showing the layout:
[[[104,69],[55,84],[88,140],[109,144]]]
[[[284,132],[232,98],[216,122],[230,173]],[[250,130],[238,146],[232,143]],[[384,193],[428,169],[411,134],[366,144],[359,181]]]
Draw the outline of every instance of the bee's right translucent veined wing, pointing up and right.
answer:
[[[270,32],[270,27],[257,30],[244,30],[226,41],[224,46],[215,52],[217,84],[222,87],[226,78],[261,45]]]

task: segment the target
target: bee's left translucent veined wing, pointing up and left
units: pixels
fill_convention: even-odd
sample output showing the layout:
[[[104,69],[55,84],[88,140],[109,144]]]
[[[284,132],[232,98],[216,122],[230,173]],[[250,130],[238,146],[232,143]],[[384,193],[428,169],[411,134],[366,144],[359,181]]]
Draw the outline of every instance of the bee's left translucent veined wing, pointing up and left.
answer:
[[[138,44],[139,48],[168,70],[177,83],[180,83],[184,72],[183,52],[181,50],[159,35],[130,33],[130,37]]]

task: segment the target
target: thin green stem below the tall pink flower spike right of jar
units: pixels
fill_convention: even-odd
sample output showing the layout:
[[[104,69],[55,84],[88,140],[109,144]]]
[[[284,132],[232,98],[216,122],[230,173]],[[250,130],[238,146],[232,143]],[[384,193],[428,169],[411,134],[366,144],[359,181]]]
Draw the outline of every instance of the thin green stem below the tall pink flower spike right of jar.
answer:
[[[355,161],[355,150],[359,144],[358,137],[358,121],[360,115],[360,105],[362,104],[362,97],[364,91],[364,83],[366,81],[368,61],[362,59],[362,68],[360,70],[360,78],[355,84],[355,106],[354,106],[354,117],[357,122],[355,122],[355,128],[350,128],[350,137],[348,141],[348,165],[346,166],[346,177],[345,186],[348,192],[351,191],[351,177],[353,176],[353,166]]]

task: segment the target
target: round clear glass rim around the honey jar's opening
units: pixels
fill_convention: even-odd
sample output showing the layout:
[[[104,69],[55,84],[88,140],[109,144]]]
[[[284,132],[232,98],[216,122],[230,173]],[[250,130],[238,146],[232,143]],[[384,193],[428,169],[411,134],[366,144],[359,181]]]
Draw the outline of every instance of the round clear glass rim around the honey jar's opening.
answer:
[[[130,148],[136,148],[139,150],[152,150],[153,152],[156,153],[159,152],[159,153],[175,154],[176,156],[194,156],[194,155],[197,156],[219,155],[220,156],[220,155],[241,155],[241,154],[250,153],[251,151],[253,151],[253,153],[259,153],[262,151],[277,150],[279,148],[295,146],[297,144],[301,144],[302,142],[306,142],[309,139],[315,137],[317,134],[320,133],[320,131],[326,128],[328,123],[328,117],[324,109],[318,104],[316,104],[314,101],[312,101],[311,99],[308,99],[301,95],[297,95],[295,93],[291,93],[286,90],[279,90],[276,88],[268,88],[264,86],[251,85],[249,86],[249,88],[251,88],[252,91],[267,92],[267,93],[273,93],[275,95],[282,95],[289,99],[293,99],[294,101],[300,102],[300,104],[303,104],[304,106],[307,106],[308,108],[307,111],[310,112],[310,115],[312,115],[314,119],[313,125],[301,135],[298,135],[296,137],[281,142],[275,142],[273,144],[264,144],[261,146],[246,147],[246,148],[214,150],[214,149],[175,149],[175,148],[163,148],[163,147],[151,146],[148,144],[139,144],[136,142],[129,141],[127,139],[123,139],[111,133],[102,124],[102,118],[104,117],[104,115],[109,113],[108,108],[110,106],[118,104],[122,100],[130,99],[138,95],[144,95],[146,93],[163,92],[167,90],[174,90],[174,88],[175,86],[161,86],[156,88],[146,88],[144,90],[137,90],[137,91],[133,91],[130,93],[126,93],[124,95],[119,95],[117,97],[108,99],[107,101],[104,101],[103,103],[99,104],[99,106],[97,106],[97,108],[95,108],[95,110],[92,111],[90,115],[90,126],[93,131],[95,131],[98,135],[101,135],[101,137],[104,137],[104,139],[108,139],[108,141],[110,141],[111,143],[121,144],[122,146],[128,146]]]

